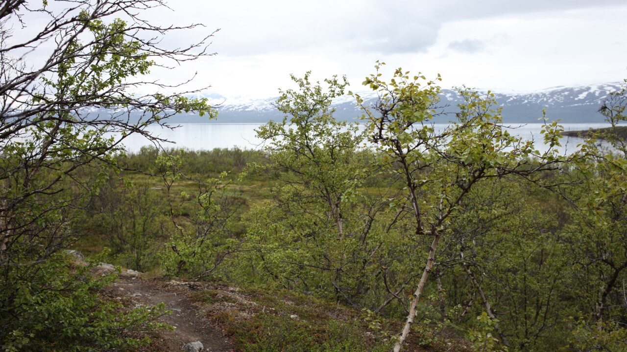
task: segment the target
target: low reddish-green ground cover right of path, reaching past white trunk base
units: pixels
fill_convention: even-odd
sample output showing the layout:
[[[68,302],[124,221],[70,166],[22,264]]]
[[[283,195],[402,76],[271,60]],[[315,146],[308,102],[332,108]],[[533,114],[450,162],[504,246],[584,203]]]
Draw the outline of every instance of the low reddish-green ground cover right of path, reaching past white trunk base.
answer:
[[[203,306],[242,352],[379,352],[391,351],[404,323],[348,308],[333,301],[270,286],[233,287],[204,284],[190,298]],[[374,323],[374,324],[373,324]],[[427,328],[413,329],[403,351],[470,352],[468,343],[433,339]]]

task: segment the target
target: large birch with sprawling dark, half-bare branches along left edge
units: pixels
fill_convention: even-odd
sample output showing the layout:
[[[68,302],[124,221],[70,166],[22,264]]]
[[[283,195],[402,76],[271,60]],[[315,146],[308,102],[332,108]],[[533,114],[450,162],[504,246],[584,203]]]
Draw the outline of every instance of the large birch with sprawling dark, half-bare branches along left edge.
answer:
[[[73,276],[55,253],[75,241],[70,219],[117,168],[114,157],[129,135],[159,143],[150,125],[171,127],[167,118],[181,111],[216,115],[182,85],[141,78],[155,66],[211,54],[213,31],[188,45],[165,46],[167,34],[201,25],[159,26],[144,17],[162,6],[160,0],[0,4],[3,350],[117,349],[126,341],[120,334],[131,331],[115,326],[126,320],[114,304],[98,308],[93,289],[102,284]],[[182,93],[166,93],[172,90]],[[131,316],[129,326],[144,324]]]

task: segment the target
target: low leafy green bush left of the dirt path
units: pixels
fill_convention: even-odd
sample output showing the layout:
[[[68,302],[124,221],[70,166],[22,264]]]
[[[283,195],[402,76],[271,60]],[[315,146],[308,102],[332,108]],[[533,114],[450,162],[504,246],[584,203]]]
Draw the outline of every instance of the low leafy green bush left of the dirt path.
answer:
[[[94,277],[89,267],[74,266],[61,254],[43,263],[8,267],[3,276],[3,352],[137,349],[150,342],[150,331],[166,326],[155,322],[166,313],[164,306],[129,311],[102,298],[99,292],[117,275]]]

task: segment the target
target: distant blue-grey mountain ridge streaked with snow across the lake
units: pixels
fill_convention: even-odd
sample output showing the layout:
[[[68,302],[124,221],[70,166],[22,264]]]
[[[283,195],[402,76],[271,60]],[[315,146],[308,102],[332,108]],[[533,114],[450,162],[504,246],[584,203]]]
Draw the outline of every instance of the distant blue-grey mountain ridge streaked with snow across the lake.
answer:
[[[498,93],[493,91],[500,106],[503,107],[503,121],[507,123],[537,123],[542,117],[542,109],[547,109],[549,120],[562,120],[564,123],[602,123],[603,116],[598,113],[603,100],[613,91],[620,90],[621,83],[602,83],[589,86],[554,87],[534,93]],[[483,91],[485,93],[485,91]],[[375,92],[360,93],[364,105],[371,105],[376,100]],[[273,103],[277,97],[247,100],[243,98],[224,98],[218,95],[199,94],[196,97],[209,98],[218,107],[218,123],[265,123],[269,120],[281,120],[282,113]],[[441,105],[448,104],[453,110],[462,100],[455,90],[445,89],[441,94]],[[354,98],[342,96],[333,103],[338,120],[355,120],[361,116]],[[208,123],[206,116],[181,114],[173,118],[178,123]],[[443,116],[441,123],[448,122]]]

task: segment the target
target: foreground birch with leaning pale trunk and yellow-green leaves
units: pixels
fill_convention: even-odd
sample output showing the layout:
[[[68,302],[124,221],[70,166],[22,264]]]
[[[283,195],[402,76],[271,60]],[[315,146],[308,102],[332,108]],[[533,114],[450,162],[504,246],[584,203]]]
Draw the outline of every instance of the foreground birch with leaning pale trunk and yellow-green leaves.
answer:
[[[448,234],[451,218],[460,212],[460,203],[480,182],[508,175],[532,175],[554,168],[559,146],[559,125],[545,128],[545,141],[550,148],[545,155],[534,149],[532,142],[514,137],[503,126],[501,110],[493,94],[458,90],[465,103],[458,106],[452,121],[443,109],[438,94],[440,76],[427,80],[418,73],[410,75],[401,68],[393,78],[383,81],[379,73],[384,63],[377,63],[376,73],[364,85],[376,91],[379,99],[372,106],[356,95],[364,111],[367,132],[377,151],[386,155],[391,173],[404,180],[405,196],[398,207],[411,213],[413,232],[418,237],[431,237],[426,251],[422,275],[413,293],[409,314],[394,351],[398,352],[407,338],[416,316],[416,306],[436,261],[436,251]],[[436,123],[448,123],[438,127]],[[537,162],[534,157],[539,157]],[[414,263],[416,270],[421,264]]]

